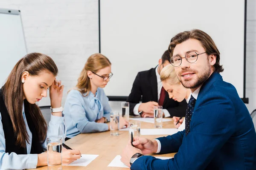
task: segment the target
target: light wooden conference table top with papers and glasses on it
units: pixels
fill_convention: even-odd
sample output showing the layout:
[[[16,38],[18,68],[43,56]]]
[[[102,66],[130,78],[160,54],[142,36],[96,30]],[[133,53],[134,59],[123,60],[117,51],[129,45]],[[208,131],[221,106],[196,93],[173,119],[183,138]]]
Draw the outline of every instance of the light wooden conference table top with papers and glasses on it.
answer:
[[[171,119],[171,118],[169,118]],[[130,119],[130,122],[134,120]],[[153,123],[141,122],[142,128],[154,128]],[[173,121],[163,122],[163,128],[175,128]],[[166,135],[143,135],[142,137],[148,139],[155,139]],[[84,133],[73,137],[65,142],[69,147],[78,149],[82,154],[99,155],[86,167],[78,166],[62,166],[63,170],[128,170],[128,168],[122,167],[108,167],[108,164],[116,157],[121,155],[122,150],[128,143],[129,134],[128,131],[120,131],[119,136],[111,136],[110,131],[100,133]],[[174,157],[175,153],[152,156],[166,156]],[[38,167],[37,170],[47,170],[47,166]]]

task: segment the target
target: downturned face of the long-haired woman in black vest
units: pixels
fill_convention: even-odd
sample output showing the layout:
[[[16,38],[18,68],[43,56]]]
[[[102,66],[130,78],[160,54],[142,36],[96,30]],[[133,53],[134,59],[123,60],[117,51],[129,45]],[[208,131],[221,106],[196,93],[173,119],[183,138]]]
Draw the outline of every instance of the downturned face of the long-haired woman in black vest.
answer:
[[[26,99],[30,104],[39,102],[42,97],[47,96],[47,88],[55,80],[55,76],[49,71],[41,71],[38,76],[31,76],[25,71],[21,77],[23,83],[23,99]]]

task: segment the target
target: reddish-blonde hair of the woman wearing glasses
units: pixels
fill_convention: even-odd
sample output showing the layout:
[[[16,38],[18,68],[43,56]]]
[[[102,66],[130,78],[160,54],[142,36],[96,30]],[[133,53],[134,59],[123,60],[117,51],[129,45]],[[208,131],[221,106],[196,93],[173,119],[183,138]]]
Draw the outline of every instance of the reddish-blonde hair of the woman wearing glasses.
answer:
[[[76,90],[80,91],[80,93],[85,96],[88,96],[88,92],[91,90],[90,86],[90,78],[87,76],[87,71],[92,71],[96,73],[102,68],[106,68],[111,66],[111,62],[107,57],[102,54],[96,53],[91,55],[81,71],[81,74],[78,78],[78,82],[76,84]]]

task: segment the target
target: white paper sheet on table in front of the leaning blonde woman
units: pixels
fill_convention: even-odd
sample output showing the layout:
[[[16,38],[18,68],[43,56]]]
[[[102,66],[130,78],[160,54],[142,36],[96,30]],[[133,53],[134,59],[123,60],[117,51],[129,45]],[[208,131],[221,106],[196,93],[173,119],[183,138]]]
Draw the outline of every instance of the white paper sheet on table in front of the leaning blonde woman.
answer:
[[[173,135],[177,132],[177,128],[140,129],[141,135]]]

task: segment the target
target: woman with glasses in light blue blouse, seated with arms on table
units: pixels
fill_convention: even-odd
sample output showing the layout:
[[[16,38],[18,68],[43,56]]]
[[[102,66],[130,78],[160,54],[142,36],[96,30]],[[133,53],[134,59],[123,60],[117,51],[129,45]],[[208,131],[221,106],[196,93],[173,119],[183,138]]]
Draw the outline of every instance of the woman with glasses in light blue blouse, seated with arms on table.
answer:
[[[112,77],[111,62],[102,54],[93,54],[81,71],[76,88],[69,91],[64,113],[67,124],[67,139],[79,133],[110,130],[111,108],[103,88]],[[120,117],[120,127],[128,121]]]

